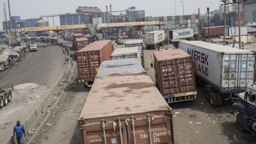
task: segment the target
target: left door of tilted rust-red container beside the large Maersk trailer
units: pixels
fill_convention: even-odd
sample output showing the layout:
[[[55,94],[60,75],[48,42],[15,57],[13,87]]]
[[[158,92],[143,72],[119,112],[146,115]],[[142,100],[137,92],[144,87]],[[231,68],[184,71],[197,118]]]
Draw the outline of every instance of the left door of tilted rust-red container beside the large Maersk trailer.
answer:
[[[162,93],[164,95],[180,92],[178,69],[175,60],[165,60],[160,63],[162,77]]]

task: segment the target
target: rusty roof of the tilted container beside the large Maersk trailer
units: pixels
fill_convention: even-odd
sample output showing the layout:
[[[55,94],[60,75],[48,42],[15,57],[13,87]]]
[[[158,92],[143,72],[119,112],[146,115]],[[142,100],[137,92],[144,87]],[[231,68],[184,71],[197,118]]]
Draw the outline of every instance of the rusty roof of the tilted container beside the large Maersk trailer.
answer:
[[[181,49],[170,49],[170,50],[161,50],[154,52],[156,59],[159,61],[169,60],[169,59],[178,59],[183,57],[190,57],[187,53],[185,53]]]

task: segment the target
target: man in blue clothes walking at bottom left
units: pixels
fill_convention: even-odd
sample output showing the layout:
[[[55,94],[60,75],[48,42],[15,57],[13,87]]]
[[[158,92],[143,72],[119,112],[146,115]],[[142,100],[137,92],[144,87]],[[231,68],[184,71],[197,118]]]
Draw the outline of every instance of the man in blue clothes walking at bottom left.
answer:
[[[24,137],[26,135],[25,135],[25,130],[24,130],[23,125],[20,124],[20,120],[18,120],[16,126],[14,126],[13,137],[14,137],[15,133],[16,133],[17,143],[24,144],[23,133],[24,133]]]

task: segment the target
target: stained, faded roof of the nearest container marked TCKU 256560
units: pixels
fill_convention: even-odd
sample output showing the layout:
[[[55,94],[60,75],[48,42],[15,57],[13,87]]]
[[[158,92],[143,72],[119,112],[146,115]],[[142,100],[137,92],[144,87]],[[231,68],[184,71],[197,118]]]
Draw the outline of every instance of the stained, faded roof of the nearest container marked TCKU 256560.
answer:
[[[92,85],[79,120],[162,111],[169,108],[147,75],[107,76]]]

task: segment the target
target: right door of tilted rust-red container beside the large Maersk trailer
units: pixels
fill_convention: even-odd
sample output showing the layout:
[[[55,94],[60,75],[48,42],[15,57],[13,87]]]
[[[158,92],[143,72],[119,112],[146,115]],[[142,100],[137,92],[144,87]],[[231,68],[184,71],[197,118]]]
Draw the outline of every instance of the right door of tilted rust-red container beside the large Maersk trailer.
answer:
[[[196,81],[191,57],[177,59],[176,63],[178,69],[178,84],[180,85],[179,92],[196,91]]]

